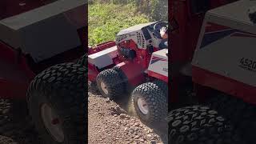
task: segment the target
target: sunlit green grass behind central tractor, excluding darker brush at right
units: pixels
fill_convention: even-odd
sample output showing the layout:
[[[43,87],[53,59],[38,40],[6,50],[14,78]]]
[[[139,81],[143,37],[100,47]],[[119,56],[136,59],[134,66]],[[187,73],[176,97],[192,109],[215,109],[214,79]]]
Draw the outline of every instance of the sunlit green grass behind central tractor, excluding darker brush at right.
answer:
[[[114,40],[120,30],[150,22],[145,14],[136,12],[131,5],[94,3],[89,5],[89,46]]]

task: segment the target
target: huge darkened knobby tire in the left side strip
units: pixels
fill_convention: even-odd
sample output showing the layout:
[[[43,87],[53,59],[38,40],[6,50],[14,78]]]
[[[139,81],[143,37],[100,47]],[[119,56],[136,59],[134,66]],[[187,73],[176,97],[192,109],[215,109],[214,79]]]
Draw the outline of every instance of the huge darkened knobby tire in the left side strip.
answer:
[[[27,103],[43,143],[86,143],[86,73],[81,65],[63,63],[42,71],[31,82]],[[58,114],[63,141],[57,142],[49,132],[50,126],[47,128],[43,121],[46,117],[42,115],[46,115],[47,110],[42,112],[42,107],[47,106]]]

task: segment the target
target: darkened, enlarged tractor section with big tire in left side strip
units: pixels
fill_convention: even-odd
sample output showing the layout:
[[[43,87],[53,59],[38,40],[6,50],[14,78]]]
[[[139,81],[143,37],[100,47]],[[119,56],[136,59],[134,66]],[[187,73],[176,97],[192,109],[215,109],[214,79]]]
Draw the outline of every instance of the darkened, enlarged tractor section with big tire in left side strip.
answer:
[[[27,100],[43,143],[86,143],[86,6],[0,2],[0,98]]]

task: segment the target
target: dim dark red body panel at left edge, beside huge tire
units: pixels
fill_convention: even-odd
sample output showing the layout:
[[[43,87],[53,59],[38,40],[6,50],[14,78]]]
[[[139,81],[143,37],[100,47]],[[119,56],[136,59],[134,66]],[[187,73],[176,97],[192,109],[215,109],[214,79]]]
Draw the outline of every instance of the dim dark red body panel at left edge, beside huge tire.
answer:
[[[0,42],[0,94],[1,98],[26,98],[26,89],[35,74],[26,58],[18,51]]]

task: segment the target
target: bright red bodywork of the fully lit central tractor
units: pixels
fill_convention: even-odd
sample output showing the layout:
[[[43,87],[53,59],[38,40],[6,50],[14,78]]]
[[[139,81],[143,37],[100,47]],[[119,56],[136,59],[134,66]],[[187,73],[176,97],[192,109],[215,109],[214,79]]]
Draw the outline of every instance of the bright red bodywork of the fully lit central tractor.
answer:
[[[94,48],[90,48],[88,54],[94,54],[102,50],[106,50],[112,46],[116,46],[116,43],[113,41],[104,42]],[[120,47],[126,47],[130,50],[134,50],[136,52],[136,57],[134,59],[127,59],[120,53]],[[154,47],[154,51],[158,50],[158,48]],[[126,75],[130,86],[138,86],[142,82],[146,80],[145,71],[147,70],[150,63],[151,54],[148,50],[138,49],[136,42],[130,40],[121,42],[118,44],[118,57],[113,59],[114,64],[111,66],[107,66],[107,68],[111,68],[113,66],[118,66],[121,68],[123,74]],[[88,78],[91,82],[96,81],[97,75],[101,71],[98,68],[90,63],[88,63]],[[150,75],[151,74],[151,75]],[[160,74],[152,74],[150,73],[152,78],[162,79],[165,82],[168,82],[168,78],[161,76]],[[160,76],[159,76],[160,75]]]

